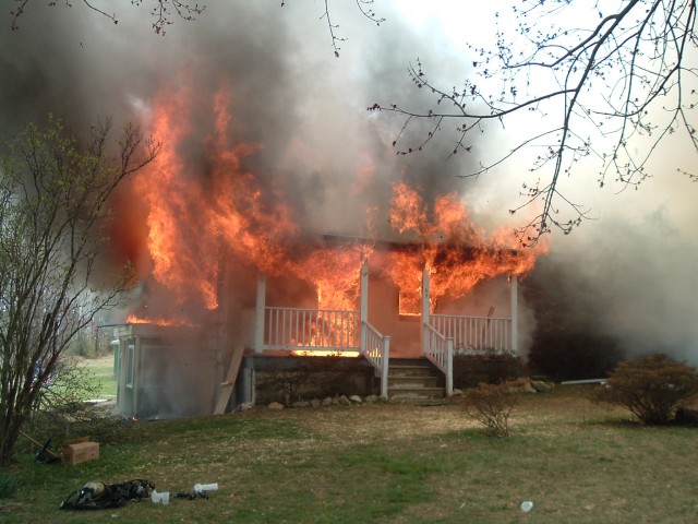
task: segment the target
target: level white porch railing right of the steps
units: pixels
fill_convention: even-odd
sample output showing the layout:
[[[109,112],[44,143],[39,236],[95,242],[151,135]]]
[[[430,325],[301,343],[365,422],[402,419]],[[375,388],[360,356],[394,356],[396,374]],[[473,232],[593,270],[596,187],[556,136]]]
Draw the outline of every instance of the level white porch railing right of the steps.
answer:
[[[431,314],[430,326],[454,340],[456,353],[507,353],[512,344],[512,319]]]

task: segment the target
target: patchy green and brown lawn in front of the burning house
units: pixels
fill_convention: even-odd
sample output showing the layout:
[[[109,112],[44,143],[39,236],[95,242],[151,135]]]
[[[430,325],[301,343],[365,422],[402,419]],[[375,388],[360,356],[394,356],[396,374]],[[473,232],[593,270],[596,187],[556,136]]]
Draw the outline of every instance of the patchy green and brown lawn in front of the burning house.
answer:
[[[513,436],[489,437],[458,404],[376,404],[131,422],[98,461],[17,456],[2,523],[694,523],[697,429],[649,428],[578,389],[528,395]],[[125,422],[124,422],[125,424]],[[60,502],[91,480],[158,491],[218,483],[208,500],[92,512]],[[534,507],[520,510],[522,501]]]

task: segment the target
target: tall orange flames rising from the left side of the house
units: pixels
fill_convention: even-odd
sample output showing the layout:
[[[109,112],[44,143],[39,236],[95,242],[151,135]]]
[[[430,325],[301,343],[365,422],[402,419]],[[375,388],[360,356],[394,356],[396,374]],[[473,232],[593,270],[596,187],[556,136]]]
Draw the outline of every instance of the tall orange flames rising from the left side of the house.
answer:
[[[208,166],[201,177],[180,151],[191,141],[189,93],[165,93],[153,111],[152,128],[164,150],[137,181],[148,206],[148,249],[153,276],[173,290],[179,300],[218,305],[217,278],[227,257],[280,276],[293,274],[312,283],[321,309],[351,310],[358,297],[361,261],[369,248],[341,250],[308,246],[298,255],[299,228],[282,198],[264,194],[243,160],[260,145],[236,142],[228,90],[213,100],[215,127],[207,136],[202,159]]]

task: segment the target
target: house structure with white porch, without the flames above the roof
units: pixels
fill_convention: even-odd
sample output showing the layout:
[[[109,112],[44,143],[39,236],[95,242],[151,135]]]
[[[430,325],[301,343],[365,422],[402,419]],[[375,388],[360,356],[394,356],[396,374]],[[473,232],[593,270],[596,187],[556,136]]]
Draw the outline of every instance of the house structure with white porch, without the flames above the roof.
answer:
[[[222,294],[219,306],[198,324],[131,317],[128,325],[115,332],[119,341],[119,413],[136,418],[224,413],[254,402],[265,373],[310,367],[326,376],[329,370],[318,358],[332,361],[333,381],[345,388],[335,390],[336,394],[443,396],[453,391],[454,354],[518,350],[514,271],[489,283],[498,288],[498,296],[488,291],[486,315],[483,311],[465,314],[481,309],[484,302],[472,300],[477,294],[440,293],[442,279],[448,283],[450,272],[442,277],[438,266],[424,266],[419,273],[423,246],[372,242],[366,255],[365,241],[332,236],[325,243],[327,253],[344,253],[345,263],[348,251],[354,250],[356,282],[351,286],[345,281],[347,287],[338,294],[344,301],[338,307],[333,301],[321,302],[320,288],[293,275],[267,278],[260,273],[251,289],[250,282],[241,285],[229,274],[230,279],[221,278],[218,284]],[[459,253],[461,264],[472,266],[486,257],[503,267],[516,267],[510,264],[520,258],[513,250],[448,249]],[[386,277],[384,264],[406,255],[413,259],[407,265],[413,265],[418,273],[410,279],[416,287],[401,289]],[[458,271],[457,265],[446,270],[450,267]],[[492,300],[504,315],[493,314]],[[327,356],[351,358],[327,360]],[[433,391],[413,384],[401,388],[392,374],[406,362],[413,366],[418,360],[431,368],[428,376],[435,373]],[[337,373],[345,380],[338,381]]]

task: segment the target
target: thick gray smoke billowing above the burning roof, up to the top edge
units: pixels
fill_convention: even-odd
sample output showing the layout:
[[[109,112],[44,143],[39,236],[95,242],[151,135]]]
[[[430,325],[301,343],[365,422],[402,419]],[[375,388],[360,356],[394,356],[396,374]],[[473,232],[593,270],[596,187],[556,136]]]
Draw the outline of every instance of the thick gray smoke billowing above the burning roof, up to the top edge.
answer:
[[[213,3],[193,23],[173,19],[165,37],[153,34],[146,13],[124,7],[113,25],[82,4],[29,3],[21,29],[2,31],[0,60],[10,79],[0,100],[10,123],[3,138],[48,112],[75,130],[98,116],[141,118],[161,102],[158,96],[167,96],[164,87],[191,90],[191,135],[206,136],[212,99],[227,83],[234,135],[262,144],[248,159],[250,169],[263,184],[280,181],[303,228],[360,234],[366,209],[385,207],[400,177],[418,186],[426,202],[462,191],[455,177],[460,162],[443,162],[450,145],[395,157],[386,145],[397,129],[386,129],[365,110],[378,96],[414,96],[405,71],[418,50],[433,55],[432,62],[449,60],[414,41],[397,13],[386,13],[390,25],[375,27],[353,5],[333,5],[333,17],[342,22],[337,32],[348,38],[339,59],[320,7]],[[203,145],[190,146],[195,164]],[[357,189],[361,172],[372,175]]]

